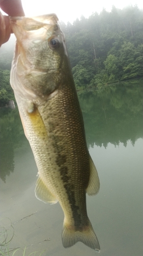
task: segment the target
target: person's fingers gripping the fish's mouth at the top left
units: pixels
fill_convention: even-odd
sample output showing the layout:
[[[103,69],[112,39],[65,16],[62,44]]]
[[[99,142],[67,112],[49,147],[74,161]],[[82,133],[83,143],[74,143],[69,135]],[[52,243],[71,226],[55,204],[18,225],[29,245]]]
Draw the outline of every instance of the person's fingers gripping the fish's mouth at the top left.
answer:
[[[0,8],[9,16],[24,16],[21,0],[0,0]],[[7,42],[11,34],[9,16],[0,12],[0,47]]]

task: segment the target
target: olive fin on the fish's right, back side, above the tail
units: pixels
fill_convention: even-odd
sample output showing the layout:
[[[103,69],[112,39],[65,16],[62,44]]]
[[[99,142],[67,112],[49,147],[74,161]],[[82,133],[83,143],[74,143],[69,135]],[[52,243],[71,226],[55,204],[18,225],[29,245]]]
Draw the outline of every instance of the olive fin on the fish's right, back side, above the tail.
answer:
[[[98,173],[94,165],[94,162],[91,156],[89,157],[90,157],[90,180],[89,180],[89,185],[87,187],[87,193],[89,196],[94,196],[99,191],[100,182],[99,182]]]

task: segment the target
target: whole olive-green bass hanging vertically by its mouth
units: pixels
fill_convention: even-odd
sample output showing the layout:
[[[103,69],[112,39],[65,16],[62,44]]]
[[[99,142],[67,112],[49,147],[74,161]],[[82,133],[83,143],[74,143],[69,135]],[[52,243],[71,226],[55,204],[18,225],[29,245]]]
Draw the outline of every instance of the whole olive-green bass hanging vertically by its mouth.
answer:
[[[38,167],[35,195],[44,203],[60,203],[65,248],[82,242],[99,252],[86,194],[96,195],[100,182],[58,17],[10,19],[16,36],[10,83]]]

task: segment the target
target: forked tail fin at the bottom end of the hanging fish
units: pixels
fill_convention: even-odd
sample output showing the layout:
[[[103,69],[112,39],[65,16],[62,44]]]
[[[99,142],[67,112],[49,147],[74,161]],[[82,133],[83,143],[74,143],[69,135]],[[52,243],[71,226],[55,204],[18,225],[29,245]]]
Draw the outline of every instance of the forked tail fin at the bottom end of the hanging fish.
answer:
[[[91,247],[92,249],[100,252],[100,245],[96,234],[93,230],[92,224],[89,220],[89,225],[83,227],[82,231],[75,231],[74,227],[68,227],[66,223],[63,225],[62,231],[62,243],[65,248],[73,246],[77,242],[82,242],[83,244]]]

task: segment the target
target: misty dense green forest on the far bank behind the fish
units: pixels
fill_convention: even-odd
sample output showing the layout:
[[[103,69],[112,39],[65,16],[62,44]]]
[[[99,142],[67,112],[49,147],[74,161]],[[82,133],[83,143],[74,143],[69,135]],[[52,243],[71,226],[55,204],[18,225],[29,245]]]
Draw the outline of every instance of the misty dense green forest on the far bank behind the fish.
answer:
[[[112,7],[73,24],[60,23],[66,36],[77,89],[143,76],[143,10]],[[9,84],[13,52],[0,54],[0,106],[14,99]]]

